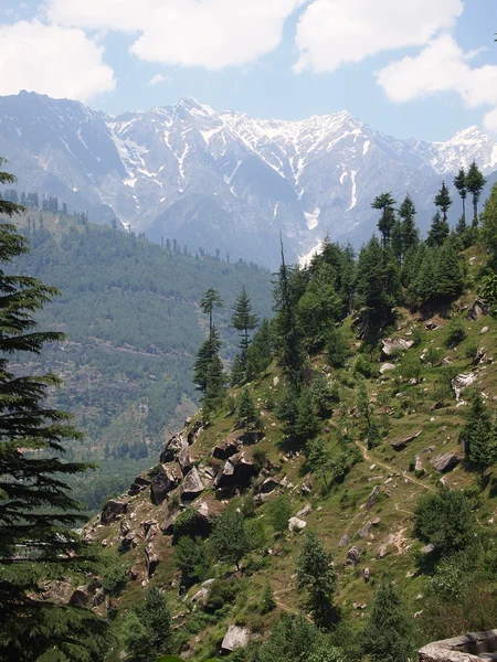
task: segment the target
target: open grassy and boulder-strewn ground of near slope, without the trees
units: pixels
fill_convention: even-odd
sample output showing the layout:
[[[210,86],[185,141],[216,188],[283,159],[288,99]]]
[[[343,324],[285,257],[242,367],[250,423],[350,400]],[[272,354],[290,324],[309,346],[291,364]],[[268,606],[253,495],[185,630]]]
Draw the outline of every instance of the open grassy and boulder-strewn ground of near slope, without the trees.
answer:
[[[482,256],[470,249],[466,258],[475,276],[483,265]],[[423,548],[413,535],[419,500],[438,493],[442,484],[451,490],[466,490],[478,533],[485,533],[488,540],[495,534],[495,467],[489,477],[493,487],[482,493],[476,488],[475,472],[462,461],[459,433],[467,416],[468,403],[463,398],[468,392],[457,394],[456,399],[454,392],[445,388],[442,394],[441,387],[451,372],[473,375],[473,385],[487,395],[495,391],[495,320],[482,314],[482,310],[472,311],[473,317],[468,317],[474,299],[474,292],[468,292],[453,309],[453,319],[459,320],[467,334],[464,341],[445,352],[445,365],[425,363],[416,378],[405,377],[406,365],[420,365],[420,356],[445,345],[451,321],[440,314],[426,319],[399,311],[393,338],[409,342],[416,337],[417,341],[401,362],[366,381],[367,402],[388,429],[372,449],[360,440],[364,421],[357,407],[355,360],[342,370],[334,370],[325,356],[314,356],[314,377],[322,374],[328,384],[340,391],[340,403],[324,421],[322,437],[324,451],[335,462],[339,457],[347,458],[345,468],[322,466],[311,473],[304,455],[286,446],[274,409],[284,393],[284,380],[276,365],[250,385],[263,419],[264,436],[243,434],[229,407],[204,427],[199,418],[188,421],[169,440],[159,465],[144,473],[129,493],[110,501],[102,516],[92,520],[85,530],[87,540],[133,566],[127,587],[119,597],[107,596],[105,605],[123,616],[142,595],[142,587],[161,588],[167,591],[175,617],[178,652],[184,659],[207,662],[220,654],[230,626],[243,628],[257,642],[268,636],[282,613],[305,609],[303,590],[296,587],[296,562],[303,547],[302,532],[314,531],[335,558],[335,601],[342,623],[349,628],[338,631],[336,641],[346,648],[350,659],[356,659],[358,652],[355,632],[370,616],[383,574],[389,574],[402,591],[411,618],[421,620],[423,611],[433,608],[429,598],[433,596],[430,591],[434,565],[430,548]],[[357,348],[352,322],[348,319],[343,324],[351,351]],[[475,364],[470,348],[478,344],[486,349]],[[396,360],[400,361],[399,353]],[[240,393],[235,389],[231,395]],[[182,471],[178,469],[175,478],[176,462]],[[242,498],[237,495],[240,491]],[[235,572],[230,563],[218,563],[202,577],[207,581],[193,580],[179,590],[178,538],[208,537],[215,516],[229,504],[247,513],[251,523],[253,537],[242,570]],[[276,506],[282,512],[289,509],[286,519],[283,514],[283,532],[275,523],[274,513],[279,512]],[[293,520],[288,522],[289,516]],[[175,522],[180,522],[181,527],[175,527]],[[455,590],[454,581],[462,584],[457,576],[442,575],[440,581],[444,580],[447,584],[441,586],[446,591],[451,587]],[[275,600],[275,609],[268,612],[264,611],[263,601],[267,586]],[[88,604],[93,599],[93,595],[87,596]],[[464,604],[468,605],[472,599],[478,598],[459,594],[451,607],[453,613],[457,612],[457,601],[463,605],[466,600]],[[485,604],[484,596],[482,600]],[[487,612],[495,613],[493,605],[491,609],[488,605]],[[474,618],[482,618],[482,613],[475,606]],[[465,617],[470,620],[473,615]],[[462,622],[454,626],[448,618],[446,623],[440,619],[433,628],[464,628],[463,618]],[[224,650],[229,652],[230,649]],[[252,659],[241,651],[229,658]]]

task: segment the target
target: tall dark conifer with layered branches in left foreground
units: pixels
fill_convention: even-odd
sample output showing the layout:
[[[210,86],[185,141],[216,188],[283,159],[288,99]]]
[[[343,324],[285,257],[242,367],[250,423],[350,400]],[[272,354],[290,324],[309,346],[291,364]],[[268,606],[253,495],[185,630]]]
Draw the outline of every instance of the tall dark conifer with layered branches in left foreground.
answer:
[[[3,159],[0,163],[4,162]],[[0,172],[0,183],[15,179]],[[11,217],[22,207],[0,200]],[[68,416],[50,407],[53,374],[19,375],[10,356],[40,354],[60,333],[36,330],[33,314],[57,295],[35,278],[8,275],[6,265],[27,253],[15,226],[0,224],[0,659],[96,661],[105,653],[105,626],[92,611],[40,600],[42,584],[95,569],[75,532],[84,520],[64,478],[87,466],[62,459],[64,441],[78,437]]]

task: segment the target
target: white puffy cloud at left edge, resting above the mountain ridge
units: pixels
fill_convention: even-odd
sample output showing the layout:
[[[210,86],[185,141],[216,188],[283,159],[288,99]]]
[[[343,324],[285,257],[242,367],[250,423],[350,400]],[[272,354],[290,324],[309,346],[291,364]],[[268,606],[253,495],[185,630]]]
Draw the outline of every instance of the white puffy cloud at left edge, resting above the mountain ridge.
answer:
[[[0,94],[20,89],[87,102],[114,89],[102,49],[82,30],[20,21],[0,25]]]

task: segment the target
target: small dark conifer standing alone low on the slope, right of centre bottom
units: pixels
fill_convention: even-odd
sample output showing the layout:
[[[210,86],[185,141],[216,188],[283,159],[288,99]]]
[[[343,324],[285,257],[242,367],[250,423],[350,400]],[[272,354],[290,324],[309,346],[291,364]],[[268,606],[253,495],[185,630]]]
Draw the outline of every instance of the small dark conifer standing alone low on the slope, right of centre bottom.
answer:
[[[334,618],[332,598],[337,570],[330,552],[316,533],[308,533],[297,558],[297,588],[306,590],[316,623],[329,626]]]

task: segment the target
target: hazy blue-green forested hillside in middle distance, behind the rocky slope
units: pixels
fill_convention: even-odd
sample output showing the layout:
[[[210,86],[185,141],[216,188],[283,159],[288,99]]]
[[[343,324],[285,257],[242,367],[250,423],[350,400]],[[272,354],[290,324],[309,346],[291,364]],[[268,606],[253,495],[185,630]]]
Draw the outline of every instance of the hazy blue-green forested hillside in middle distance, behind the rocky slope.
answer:
[[[231,308],[245,286],[261,317],[271,316],[272,277],[201,248],[188,256],[169,242],[160,247],[92,225],[84,214],[30,211],[19,226],[31,250],[13,268],[61,290],[38,319],[41,328],[67,337],[28,365],[31,371],[43,365],[64,380],[54,398],[84,433],[68,457],[101,466],[74,479],[77,493],[97,508],[148,467],[165,436],[197,409],[191,371],[205,332],[199,308],[203,290],[215,284],[223,297],[215,321],[224,337],[221,354],[230,361],[237,342],[229,328]]]

